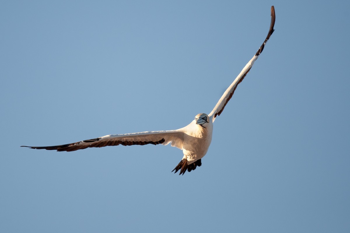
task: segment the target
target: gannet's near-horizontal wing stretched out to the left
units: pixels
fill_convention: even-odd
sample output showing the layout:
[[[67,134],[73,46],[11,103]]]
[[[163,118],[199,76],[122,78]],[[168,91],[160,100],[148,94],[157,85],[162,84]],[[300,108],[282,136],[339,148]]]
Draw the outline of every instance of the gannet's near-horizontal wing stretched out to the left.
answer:
[[[171,144],[182,150],[183,132],[179,130],[167,131],[147,131],[139,133],[127,134],[111,134],[99,138],[93,138],[76,143],[69,143],[58,146],[24,146],[32,149],[45,149],[57,151],[76,151],[87,147],[103,147],[103,146],[131,146],[131,145],[146,145],[146,144]]]

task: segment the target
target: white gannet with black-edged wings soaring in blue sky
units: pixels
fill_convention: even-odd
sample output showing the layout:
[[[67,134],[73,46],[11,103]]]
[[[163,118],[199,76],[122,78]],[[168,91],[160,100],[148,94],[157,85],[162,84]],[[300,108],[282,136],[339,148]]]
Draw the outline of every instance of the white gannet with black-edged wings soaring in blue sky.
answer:
[[[186,171],[191,172],[202,165],[202,158],[207,153],[212,139],[213,123],[217,116],[224,110],[226,104],[231,99],[237,85],[244,79],[247,73],[252,68],[254,61],[257,60],[266,42],[274,32],[275,24],[275,9],[271,7],[271,23],[267,37],[255,53],[253,58],[245,65],[243,70],[238,74],[237,78],[226,89],[222,97],[219,99],[214,109],[209,113],[197,114],[191,123],[177,130],[165,131],[147,131],[127,134],[111,134],[103,137],[78,141],[57,146],[21,146],[32,149],[45,149],[56,151],[76,151],[88,147],[104,147],[104,146],[131,146],[131,145],[168,145],[177,147],[183,152],[183,158],[179,164],[172,170],[179,175],[183,175]]]

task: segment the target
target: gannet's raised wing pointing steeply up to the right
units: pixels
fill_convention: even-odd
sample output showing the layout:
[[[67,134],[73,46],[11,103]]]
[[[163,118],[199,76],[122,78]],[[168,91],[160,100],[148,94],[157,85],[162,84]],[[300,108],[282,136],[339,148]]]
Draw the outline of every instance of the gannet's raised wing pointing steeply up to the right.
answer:
[[[262,45],[260,46],[260,48],[257,51],[257,53],[255,53],[254,57],[247,63],[247,65],[245,65],[245,67],[239,73],[239,75],[237,76],[235,81],[232,82],[232,84],[229,86],[229,88],[227,88],[225,93],[221,96],[219,102],[215,105],[215,108],[210,112],[209,117],[212,118],[213,122],[215,121],[216,116],[219,116],[221,114],[221,112],[224,110],[226,104],[229,102],[229,100],[231,99],[233,93],[235,92],[235,90],[237,88],[237,85],[244,79],[245,75],[247,75],[247,73],[252,68],[252,66],[254,64],[254,61],[256,59],[258,59],[260,53],[264,49],[264,46],[265,46],[266,42],[268,41],[268,39],[270,38],[270,36],[272,35],[272,33],[274,31],[273,26],[275,25],[275,18],[276,18],[275,17],[275,8],[274,8],[274,6],[272,6],[271,7],[270,30],[268,31],[268,34],[267,34],[267,37],[266,37],[264,43],[262,43]]]

